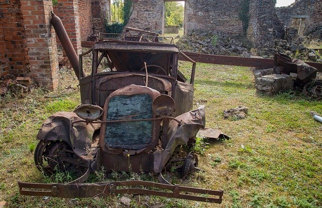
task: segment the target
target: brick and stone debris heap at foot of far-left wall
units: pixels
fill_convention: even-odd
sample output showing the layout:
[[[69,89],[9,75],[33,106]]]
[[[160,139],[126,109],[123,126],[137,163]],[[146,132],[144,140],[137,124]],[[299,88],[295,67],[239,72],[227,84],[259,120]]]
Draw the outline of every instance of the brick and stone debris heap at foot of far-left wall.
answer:
[[[10,93],[16,97],[22,97],[33,88],[30,77],[6,77],[0,80],[0,96]]]

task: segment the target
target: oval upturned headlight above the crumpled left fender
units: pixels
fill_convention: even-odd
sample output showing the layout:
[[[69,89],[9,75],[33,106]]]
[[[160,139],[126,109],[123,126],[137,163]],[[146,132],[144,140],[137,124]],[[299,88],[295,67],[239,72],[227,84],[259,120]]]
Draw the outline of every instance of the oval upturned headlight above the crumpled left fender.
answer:
[[[80,105],[74,112],[79,118],[82,118],[86,121],[95,121],[103,115],[103,108],[97,105]]]

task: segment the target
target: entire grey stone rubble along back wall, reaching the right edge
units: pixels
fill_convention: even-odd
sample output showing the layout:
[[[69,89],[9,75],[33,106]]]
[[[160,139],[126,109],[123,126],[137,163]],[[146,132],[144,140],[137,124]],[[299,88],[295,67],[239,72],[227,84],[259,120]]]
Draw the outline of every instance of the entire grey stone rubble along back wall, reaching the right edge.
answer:
[[[180,50],[203,54],[242,57],[253,55],[272,59],[274,52],[278,51],[303,61],[322,62],[322,57],[317,51],[305,47],[312,40],[322,44],[322,40],[315,37],[313,35],[299,37],[297,29],[290,27],[286,31],[285,40],[275,39],[273,48],[263,46],[262,49],[251,53],[252,44],[246,38],[233,37],[218,31],[194,30],[187,37],[181,37],[177,45]]]

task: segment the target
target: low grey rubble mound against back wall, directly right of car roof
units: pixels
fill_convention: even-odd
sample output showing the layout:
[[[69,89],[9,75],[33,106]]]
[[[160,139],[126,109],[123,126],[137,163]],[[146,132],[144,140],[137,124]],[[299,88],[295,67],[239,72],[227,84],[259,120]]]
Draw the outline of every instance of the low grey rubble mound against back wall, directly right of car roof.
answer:
[[[183,51],[223,56],[250,57],[251,44],[240,37],[231,37],[219,31],[194,30],[182,37],[178,47]]]

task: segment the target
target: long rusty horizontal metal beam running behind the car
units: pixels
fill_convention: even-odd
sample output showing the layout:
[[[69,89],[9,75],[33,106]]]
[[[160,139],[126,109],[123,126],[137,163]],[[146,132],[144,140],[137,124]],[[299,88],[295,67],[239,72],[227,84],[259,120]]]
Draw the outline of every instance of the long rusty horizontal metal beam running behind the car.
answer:
[[[91,48],[94,42],[83,41],[82,47]],[[199,63],[207,64],[221,64],[231,66],[242,66],[242,67],[258,67],[258,68],[273,68],[274,59],[262,59],[262,58],[249,58],[249,57],[238,57],[238,56],[219,56],[210,54],[199,54],[188,51],[183,51],[190,59]],[[183,55],[179,56],[179,60],[187,61]],[[322,64],[315,62],[305,62],[306,64],[315,67],[318,72],[322,72]]]

